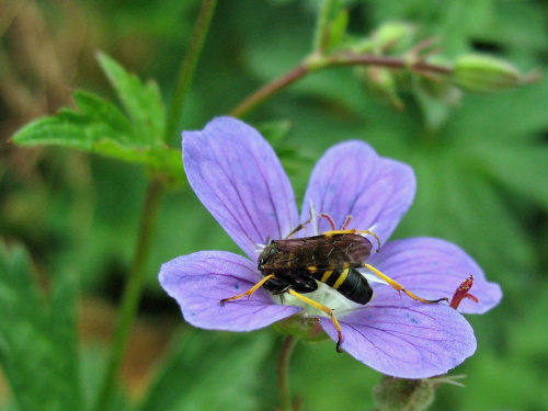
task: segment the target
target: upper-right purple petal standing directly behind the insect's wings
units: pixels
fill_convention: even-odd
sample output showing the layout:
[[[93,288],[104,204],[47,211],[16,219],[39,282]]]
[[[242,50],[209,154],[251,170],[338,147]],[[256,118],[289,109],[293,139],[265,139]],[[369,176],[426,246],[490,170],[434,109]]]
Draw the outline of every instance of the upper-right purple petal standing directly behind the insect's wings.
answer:
[[[310,201],[317,213],[329,214],[336,228],[347,215],[350,228],[372,229],[385,243],[413,202],[413,170],[399,161],[378,157],[363,141],[347,141],[329,149],[312,171],[301,219]],[[320,232],[331,229],[320,221]]]

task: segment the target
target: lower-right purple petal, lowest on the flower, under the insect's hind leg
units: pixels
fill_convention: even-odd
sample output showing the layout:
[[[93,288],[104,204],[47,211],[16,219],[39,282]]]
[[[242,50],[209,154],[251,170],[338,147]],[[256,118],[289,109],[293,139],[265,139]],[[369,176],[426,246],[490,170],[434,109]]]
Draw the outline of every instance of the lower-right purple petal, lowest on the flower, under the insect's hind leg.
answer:
[[[466,319],[448,306],[400,299],[398,295],[340,316],[342,349],[369,367],[399,378],[444,374],[476,351]],[[328,318],[320,318],[336,341]]]

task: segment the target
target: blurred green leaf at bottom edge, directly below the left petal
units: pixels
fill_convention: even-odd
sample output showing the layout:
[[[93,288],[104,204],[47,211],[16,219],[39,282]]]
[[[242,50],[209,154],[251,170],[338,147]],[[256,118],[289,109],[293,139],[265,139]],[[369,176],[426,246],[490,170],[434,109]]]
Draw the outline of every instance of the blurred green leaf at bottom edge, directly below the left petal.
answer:
[[[254,391],[272,346],[273,334],[264,332],[185,334],[139,410],[256,410]]]

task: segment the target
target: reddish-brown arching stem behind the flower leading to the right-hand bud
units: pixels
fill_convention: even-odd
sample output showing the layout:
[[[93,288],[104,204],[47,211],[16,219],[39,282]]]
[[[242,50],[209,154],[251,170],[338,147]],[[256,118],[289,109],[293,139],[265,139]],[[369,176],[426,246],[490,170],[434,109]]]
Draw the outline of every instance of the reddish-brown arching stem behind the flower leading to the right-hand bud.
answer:
[[[446,66],[433,65],[421,59],[410,62],[406,58],[398,57],[385,57],[375,55],[364,55],[355,54],[351,52],[339,52],[333,53],[329,56],[320,56],[318,54],[312,54],[310,58],[305,59],[294,69],[289,70],[285,75],[278,77],[277,79],[271,81],[266,85],[262,87],[250,96],[248,96],[243,102],[238,104],[230,115],[235,117],[243,117],[249,112],[256,109],[265,100],[273,96],[282,89],[293,84],[297,80],[301,79],[306,75],[315,71],[320,71],[332,67],[344,67],[344,66],[378,66],[392,69],[409,69],[411,71],[421,75],[449,75],[453,69]]]

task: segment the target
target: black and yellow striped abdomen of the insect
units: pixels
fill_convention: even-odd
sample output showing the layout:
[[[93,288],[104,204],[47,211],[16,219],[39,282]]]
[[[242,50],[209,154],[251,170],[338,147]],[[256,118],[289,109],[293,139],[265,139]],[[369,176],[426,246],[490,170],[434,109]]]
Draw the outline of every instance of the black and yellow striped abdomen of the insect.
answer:
[[[373,289],[367,279],[354,267],[318,271],[315,279],[336,289],[351,301],[366,305],[373,298]]]

